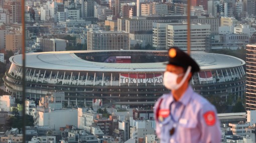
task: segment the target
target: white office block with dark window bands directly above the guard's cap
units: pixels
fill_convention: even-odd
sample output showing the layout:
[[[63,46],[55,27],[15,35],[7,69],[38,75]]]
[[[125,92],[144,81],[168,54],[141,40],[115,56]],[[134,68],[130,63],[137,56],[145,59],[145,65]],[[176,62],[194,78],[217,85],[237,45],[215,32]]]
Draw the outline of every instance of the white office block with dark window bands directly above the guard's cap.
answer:
[[[210,24],[191,24],[191,50],[204,51],[207,37],[210,35]],[[177,24],[167,26],[167,48],[178,46],[182,50],[187,49],[187,24]]]

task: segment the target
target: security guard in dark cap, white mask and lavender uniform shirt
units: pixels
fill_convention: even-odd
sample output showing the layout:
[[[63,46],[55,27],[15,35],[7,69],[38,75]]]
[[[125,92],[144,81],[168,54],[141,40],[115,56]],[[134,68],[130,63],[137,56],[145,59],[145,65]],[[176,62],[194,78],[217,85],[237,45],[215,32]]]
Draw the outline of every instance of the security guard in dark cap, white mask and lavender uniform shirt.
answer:
[[[220,142],[220,123],[215,107],[194,92],[189,81],[198,64],[178,47],[169,49],[164,85],[171,92],[155,103],[156,133],[161,142]]]

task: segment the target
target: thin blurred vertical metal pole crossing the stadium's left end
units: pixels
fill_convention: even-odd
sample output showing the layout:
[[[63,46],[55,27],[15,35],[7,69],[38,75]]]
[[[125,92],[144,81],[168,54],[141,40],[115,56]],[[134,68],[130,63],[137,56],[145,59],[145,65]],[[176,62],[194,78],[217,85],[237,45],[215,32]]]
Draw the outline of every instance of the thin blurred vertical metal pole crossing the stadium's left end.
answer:
[[[22,109],[22,115],[23,115],[23,126],[22,126],[22,133],[23,133],[23,142],[26,142],[26,130],[25,130],[25,123],[26,123],[26,114],[25,114],[25,97],[26,97],[26,47],[25,47],[25,0],[21,0],[21,16],[22,16],[22,102],[23,102],[23,109]]]

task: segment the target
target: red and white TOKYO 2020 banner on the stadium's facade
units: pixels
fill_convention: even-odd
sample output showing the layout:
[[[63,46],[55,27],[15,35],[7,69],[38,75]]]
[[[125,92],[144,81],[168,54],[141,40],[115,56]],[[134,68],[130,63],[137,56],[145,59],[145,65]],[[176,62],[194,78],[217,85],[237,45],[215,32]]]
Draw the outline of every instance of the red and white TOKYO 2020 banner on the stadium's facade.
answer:
[[[163,83],[162,73],[121,73],[120,83]]]

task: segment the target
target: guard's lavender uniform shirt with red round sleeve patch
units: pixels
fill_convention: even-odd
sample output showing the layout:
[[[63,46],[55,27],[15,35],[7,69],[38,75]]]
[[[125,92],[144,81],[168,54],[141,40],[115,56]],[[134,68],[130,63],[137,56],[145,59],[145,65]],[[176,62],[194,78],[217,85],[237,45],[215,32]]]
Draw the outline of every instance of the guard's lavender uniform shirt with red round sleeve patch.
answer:
[[[162,95],[155,103],[154,113],[156,133],[161,142],[221,141],[220,123],[215,107],[194,92],[191,86],[178,101],[174,100],[171,93]]]

